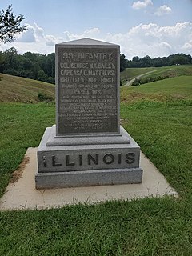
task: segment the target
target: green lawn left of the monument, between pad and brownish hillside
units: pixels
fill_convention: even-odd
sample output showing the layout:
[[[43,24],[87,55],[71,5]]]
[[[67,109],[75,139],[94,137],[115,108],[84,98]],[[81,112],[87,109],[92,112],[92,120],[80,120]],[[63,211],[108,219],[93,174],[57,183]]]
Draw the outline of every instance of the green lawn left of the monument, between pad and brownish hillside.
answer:
[[[54,104],[0,103],[0,196],[28,147],[38,146],[54,124]]]

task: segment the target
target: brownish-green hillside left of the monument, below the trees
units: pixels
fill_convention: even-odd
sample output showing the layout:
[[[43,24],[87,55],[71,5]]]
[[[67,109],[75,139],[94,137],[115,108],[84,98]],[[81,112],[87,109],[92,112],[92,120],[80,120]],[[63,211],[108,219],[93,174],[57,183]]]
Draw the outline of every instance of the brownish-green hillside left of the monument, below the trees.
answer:
[[[39,102],[38,94],[54,99],[54,85],[28,78],[0,74],[0,102]]]

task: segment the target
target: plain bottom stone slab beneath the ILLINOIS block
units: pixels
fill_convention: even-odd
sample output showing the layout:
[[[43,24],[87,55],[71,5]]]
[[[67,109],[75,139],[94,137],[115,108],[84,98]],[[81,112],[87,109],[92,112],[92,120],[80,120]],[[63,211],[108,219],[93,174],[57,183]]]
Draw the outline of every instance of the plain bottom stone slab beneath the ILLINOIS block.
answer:
[[[142,182],[142,169],[87,170],[64,173],[38,173],[35,176],[37,189],[73,186],[102,186]]]

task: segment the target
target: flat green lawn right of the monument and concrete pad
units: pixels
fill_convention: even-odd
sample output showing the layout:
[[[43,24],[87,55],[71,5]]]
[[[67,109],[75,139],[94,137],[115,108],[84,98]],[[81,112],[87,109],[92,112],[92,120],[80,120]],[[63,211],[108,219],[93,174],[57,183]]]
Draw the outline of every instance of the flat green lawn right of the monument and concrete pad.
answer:
[[[122,103],[121,113],[122,125],[132,134],[146,157],[154,162],[181,196],[190,195],[192,101]]]

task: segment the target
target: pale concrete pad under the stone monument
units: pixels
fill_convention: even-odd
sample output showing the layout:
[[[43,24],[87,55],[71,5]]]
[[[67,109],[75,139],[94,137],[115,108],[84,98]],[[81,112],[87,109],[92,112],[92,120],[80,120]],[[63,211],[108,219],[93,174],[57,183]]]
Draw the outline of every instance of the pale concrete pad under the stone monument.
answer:
[[[163,195],[178,196],[177,192],[166,182],[166,178],[156,169],[144,154],[141,153],[140,166],[143,170],[141,184],[112,186],[73,187],[54,190],[36,190],[34,175],[37,172],[37,148],[29,148],[26,164],[17,182],[10,183],[0,199],[0,210],[36,210],[61,207],[79,202],[96,203],[107,200]]]

